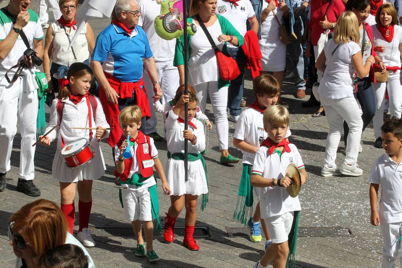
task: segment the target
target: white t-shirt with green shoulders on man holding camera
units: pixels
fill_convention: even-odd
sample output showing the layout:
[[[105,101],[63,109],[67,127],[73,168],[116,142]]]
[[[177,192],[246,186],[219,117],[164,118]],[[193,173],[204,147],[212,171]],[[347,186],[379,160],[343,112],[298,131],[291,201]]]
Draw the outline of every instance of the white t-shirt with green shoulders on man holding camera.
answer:
[[[27,37],[31,48],[33,48],[33,39],[41,40],[43,39],[43,30],[41,24],[39,23],[38,15],[31,9],[28,9],[29,22],[23,28],[25,36]],[[16,18],[16,16],[15,16]],[[10,31],[13,31],[14,23],[11,22],[10,18],[0,10],[0,41],[6,39]],[[23,59],[24,51],[27,49],[21,36],[18,36],[17,41],[15,41],[14,47],[11,49],[10,53],[5,59],[0,60],[0,72],[7,71],[12,66],[16,65],[18,61]]]

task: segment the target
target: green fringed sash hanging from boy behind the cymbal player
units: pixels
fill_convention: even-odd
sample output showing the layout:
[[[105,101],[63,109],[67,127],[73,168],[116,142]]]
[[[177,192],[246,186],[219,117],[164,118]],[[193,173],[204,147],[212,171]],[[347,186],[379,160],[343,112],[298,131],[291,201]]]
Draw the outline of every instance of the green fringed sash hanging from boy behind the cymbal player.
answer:
[[[240,221],[244,224],[244,226],[246,226],[247,220],[252,217],[253,212],[253,188],[250,185],[251,168],[252,165],[243,164],[243,172],[242,178],[240,178],[236,209],[233,213],[233,219]]]

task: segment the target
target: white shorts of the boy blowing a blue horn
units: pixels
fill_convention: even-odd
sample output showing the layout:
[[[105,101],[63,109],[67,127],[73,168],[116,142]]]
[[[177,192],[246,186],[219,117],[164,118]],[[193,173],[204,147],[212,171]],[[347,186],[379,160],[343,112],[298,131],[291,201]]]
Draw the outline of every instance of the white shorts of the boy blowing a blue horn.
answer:
[[[149,188],[141,190],[121,189],[124,215],[128,221],[152,221],[151,195]]]

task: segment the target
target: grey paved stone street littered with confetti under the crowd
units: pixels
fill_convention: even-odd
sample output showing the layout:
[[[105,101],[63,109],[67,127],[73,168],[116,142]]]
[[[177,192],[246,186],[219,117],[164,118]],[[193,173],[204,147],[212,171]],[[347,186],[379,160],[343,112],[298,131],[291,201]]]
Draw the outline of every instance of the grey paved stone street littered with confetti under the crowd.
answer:
[[[38,2],[31,7],[37,10]],[[3,2],[0,6],[4,6]],[[95,36],[107,25],[108,19],[92,20]],[[250,77],[245,81],[244,96],[248,104],[254,101]],[[299,197],[302,206],[300,227],[348,227],[353,235],[338,237],[299,237],[297,241],[297,267],[380,267],[382,237],[379,227],[369,223],[369,198],[367,178],[371,165],[377,156],[384,153],[373,147],[373,129],[370,125],[363,133],[363,152],[359,154],[359,166],[363,169],[360,177],[334,176],[323,178],[320,168],[323,164],[325,139],[328,123],[325,117],[312,118],[314,108],[303,108],[293,97],[295,89],[285,81],[283,100],[289,104],[291,113],[291,142],[297,145],[309,173],[309,180]],[[308,92],[309,93],[309,92]],[[46,110],[47,117],[49,109]],[[204,212],[199,211],[196,226],[209,227],[211,237],[197,239],[199,252],[190,252],[182,245],[183,237],[177,236],[172,244],[163,243],[162,237],[154,237],[154,249],[161,260],[150,264],[145,258],[133,254],[136,245],[130,229],[109,231],[94,237],[95,248],[88,248],[97,267],[252,267],[263,254],[264,244],[252,243],[246,237],[229,238],[226,227],[242,227],[232,219],[236,205],[237,189],[242,170],[241,163],[219,164],[219,147],[215,132],[211,105],[207,106],[207,116],[213,123],[213,130],[207,132],[208,153],[206,157],[209,176],[209,203]],[[159,119],[161,119],[159,117]],[[162,120],[160,120],[162,122]],[[158,132],[163,133],[162,124]],[[241,157],[241,152],[232,145],[235,124],[229,123],[230,153]],[[16,192],[18,178],[21,136],[14,138],[11,155],[12,168],[7,174],[7,188],[0,194],[0,267],[12,267],[15,256],[7,238],[7,222],[12,213],[36,198]],[[157,142],[160,160],[166,164],[166,142]],[[118,190],[113,184],[114,164],[111,148],[104,141],[101,144],[107,166],[107,175],[96,180],[93,185],[93,207],[90,225],[129,227],[118,198]],[[343,162],[343,141],[337,153],[336,164]],[[35,155],[35,184],[41,189],[39,198],[59,202],[59,186],[51,177],[51,165],[56,150],[56,142],[50,147],[37,146]],[[170,200],[160,192],[160,216],[164,216]],[[76,199],[78,202],[78,198]],[[77,214],[78,216],[78,214]],[[77,223],[76,223],[77,224]],[[178,218],[177,226],[184,226],[184,214]],[[75,226],[76,230],[78,225]],[[399,258],[397,260],[399,267]]]

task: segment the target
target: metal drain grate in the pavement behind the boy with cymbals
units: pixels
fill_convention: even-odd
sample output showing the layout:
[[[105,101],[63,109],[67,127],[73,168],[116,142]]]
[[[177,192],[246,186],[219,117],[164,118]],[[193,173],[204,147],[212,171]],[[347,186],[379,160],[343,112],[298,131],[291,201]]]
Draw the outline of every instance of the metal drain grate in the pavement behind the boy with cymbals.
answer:
[[[226,227],[228,237],[248,237],[250,231],[246,227]],[[264,237],[264,233],[261,232]],[[345,227],[299,227],[298,237],[341,237],[355,236],[351,229]]]

